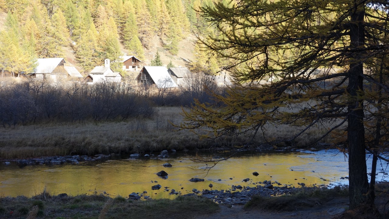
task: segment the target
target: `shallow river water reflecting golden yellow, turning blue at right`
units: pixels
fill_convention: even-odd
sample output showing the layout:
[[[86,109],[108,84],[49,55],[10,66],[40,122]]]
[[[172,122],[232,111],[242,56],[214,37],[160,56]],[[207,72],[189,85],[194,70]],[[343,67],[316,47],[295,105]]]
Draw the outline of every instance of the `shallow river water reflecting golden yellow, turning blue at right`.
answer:
[[[30,197],[46,189],[54,195],[106,193],[112,197],[128,197],[132,192],[147,191],[151,198],[174,198],[175,195],[169,195],[169,192],[163,190],[165,186],[186,194],[192,193],[192,189],[210,189],[210,183],[213,184],[212,189],[218,190],[229,189],[232,185],[255,186],[252,183],[263,180],[277,181],[292,187],[298,187],[298,183],[307,186],[348,184],[347,179],[340,179],[348,176],[347,158],[337,150],[241,154],[217,163],[209,171],[207,167],[212,163],[196,163],[180,152],[169,155],[167,159],[116,158],[74,165],[19,167],[14,163],[0,164],[0,197]],[[367,159],[370,172],[371,159],[368,156]],[[164,163],[171,163],[172,167],[163,167]],[[378,163],[377,172],[382,172],[377,175],[378,181],[387,180],[387,175],[384,175],[386,167],[386,163]],[[167,179],[156,175],[161,170],[168,173]],[[254,176],[252,172],[258,172],[259,175]],[[193,177],[205,181],[190,182],[189,179]],[[251,180],[243,182],[246,178]],[[156,184],[162,188],[151,190],[151,186]]]

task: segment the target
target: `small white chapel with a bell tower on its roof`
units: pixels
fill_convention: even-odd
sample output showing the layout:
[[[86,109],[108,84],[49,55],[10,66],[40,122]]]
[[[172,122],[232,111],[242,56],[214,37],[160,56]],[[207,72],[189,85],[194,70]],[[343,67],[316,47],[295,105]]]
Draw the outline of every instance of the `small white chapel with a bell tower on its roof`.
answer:
[[[84,82],[87,84],[93,84],[98,81],[114,81],[121,82],[122,75],[119,72],[114,72],[110,68],[110,60],[104,60],[104,66],[96,66],[89,72],[84,78]]]

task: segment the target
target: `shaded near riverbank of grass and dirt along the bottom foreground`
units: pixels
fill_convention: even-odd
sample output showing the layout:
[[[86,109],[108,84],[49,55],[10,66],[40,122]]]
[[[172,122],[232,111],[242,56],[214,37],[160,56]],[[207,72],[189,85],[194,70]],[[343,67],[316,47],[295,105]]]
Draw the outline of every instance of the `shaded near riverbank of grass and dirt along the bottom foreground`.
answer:
[[[103,194],[51,196],[42,193],[32,198],[0,198],[1,218],[332,218],[348,209],[347,189],[295,189],[287,196],[254,196],[241,204],[217,204],[207,196],[177,196],[173,200],[138,200]],[[340,217],[341,218],[341,217]],[[356,217],[361,218],[361,217]]]

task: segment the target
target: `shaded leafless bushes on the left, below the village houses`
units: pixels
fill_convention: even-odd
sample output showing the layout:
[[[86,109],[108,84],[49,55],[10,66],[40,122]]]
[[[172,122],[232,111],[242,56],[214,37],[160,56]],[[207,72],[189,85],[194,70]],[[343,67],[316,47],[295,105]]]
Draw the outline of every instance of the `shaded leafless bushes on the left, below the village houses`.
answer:
[[[125,120],[150,117],[154,108],[125,83],[53,84],[30,79],[0,88],[3,126],[42,121]]]

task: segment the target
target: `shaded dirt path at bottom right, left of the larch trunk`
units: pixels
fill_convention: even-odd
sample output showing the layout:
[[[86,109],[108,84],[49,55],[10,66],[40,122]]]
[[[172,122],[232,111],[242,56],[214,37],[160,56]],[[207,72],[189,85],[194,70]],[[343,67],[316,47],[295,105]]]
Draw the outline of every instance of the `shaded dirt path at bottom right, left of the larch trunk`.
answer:
[[[214,214],[205,215],[202,219],[331,219],[329,208],[348,208],[348,198],[334,198],[327,203],[316,203],[312,208],[295,210],[292,212],[272,212],[258,209],[245,210],[243,205],[228,207],[220,205],[221,210]]]

